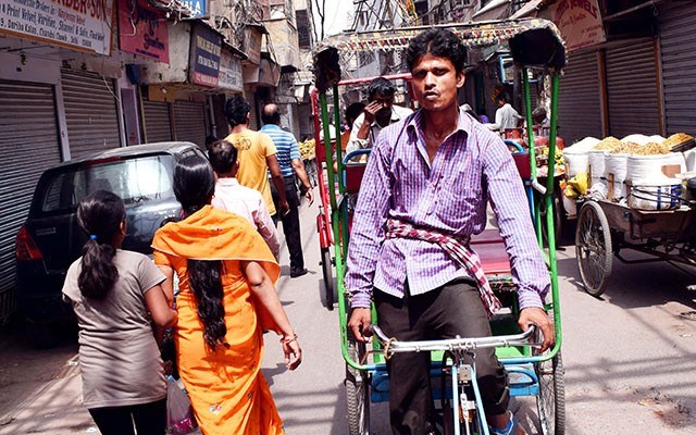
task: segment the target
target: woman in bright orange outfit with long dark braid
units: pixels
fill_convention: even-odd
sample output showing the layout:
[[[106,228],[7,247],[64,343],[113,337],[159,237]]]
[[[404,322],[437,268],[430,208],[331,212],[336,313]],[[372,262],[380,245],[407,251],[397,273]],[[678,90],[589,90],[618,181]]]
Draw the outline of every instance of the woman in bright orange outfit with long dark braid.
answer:
[[[210,206],[213,187],[206,159],[183,159],[174,171],[174,194],[185,219],[164,225],[152,241],[169,297],[173,274],[179,278],[174,332],[179,374],[203,434],[284,434],[260,370],[264,330],[282,336],[289,370],[301,361],[275,293],[279,266],[244,217]]]

